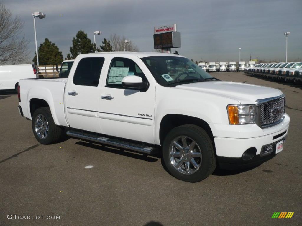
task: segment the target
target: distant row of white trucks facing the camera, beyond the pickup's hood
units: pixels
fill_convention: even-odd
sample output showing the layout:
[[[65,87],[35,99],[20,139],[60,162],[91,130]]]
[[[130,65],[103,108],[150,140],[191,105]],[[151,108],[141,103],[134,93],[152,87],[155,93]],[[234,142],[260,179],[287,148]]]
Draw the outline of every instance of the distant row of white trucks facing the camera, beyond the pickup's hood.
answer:
[[[230,62],[201,62],[198,63],[198,66],[204,69],[207,72],[222,72],[222,71],[244,71],[246,67],[255,66],[255,61],[239,61],[237,64],[235,61]]]

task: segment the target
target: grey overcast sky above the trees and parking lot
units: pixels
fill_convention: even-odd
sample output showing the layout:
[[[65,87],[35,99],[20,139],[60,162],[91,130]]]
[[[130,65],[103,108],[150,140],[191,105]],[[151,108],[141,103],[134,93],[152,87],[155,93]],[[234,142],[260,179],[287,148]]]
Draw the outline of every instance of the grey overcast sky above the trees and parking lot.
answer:
[[[288,59],[302,59],[302,0],[2,0],[24,21],[30,41],[30,59],[35,52],[31,13],[36,19],[38,46],[45,38],[55,42],[65,58],[72,38],[84,30],[97,45],[112,33],[125,36],[140,52],[152,52],[154,26],[177,24],[182,47],[175,50],[194,60],[238,61],[240,58],[285,60],[284,32],[289,31]],[[63,14],[63,16],[60,16]]]

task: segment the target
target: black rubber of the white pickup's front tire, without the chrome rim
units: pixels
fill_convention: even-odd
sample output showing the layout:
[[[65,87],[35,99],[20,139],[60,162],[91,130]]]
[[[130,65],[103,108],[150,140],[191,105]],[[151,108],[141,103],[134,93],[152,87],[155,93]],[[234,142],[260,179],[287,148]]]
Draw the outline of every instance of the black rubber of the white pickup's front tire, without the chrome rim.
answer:
[[[172,143],[173,139],[178,136],[190,137],[200,147],[202,154],[201,165],[193,174],[184,174],[179,172],[171,162],[169,155],[170,144]],[[187,182],[198,182],[204,180],[210,174],[212,174],[216,168],[216,158],[210,137],[204,129],[193,124],[175,127],[167,134],[162,147],[162,156],[164,164],[169,173],[177,179]]]

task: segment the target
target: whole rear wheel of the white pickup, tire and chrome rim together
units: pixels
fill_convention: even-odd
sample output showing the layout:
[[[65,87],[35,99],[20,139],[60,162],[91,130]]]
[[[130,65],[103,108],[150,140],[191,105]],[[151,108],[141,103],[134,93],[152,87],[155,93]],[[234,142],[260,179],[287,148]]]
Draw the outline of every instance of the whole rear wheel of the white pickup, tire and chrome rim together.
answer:
[[[44,119],[46,119],[46,122]],[[58,143],[64,137],[64,130],[54,123],[49,107],[38,108],[34,111],[31,127],[34,136],[41,144]],[[38,133],[36,130],[39,130],[39,128],[41,132]]]

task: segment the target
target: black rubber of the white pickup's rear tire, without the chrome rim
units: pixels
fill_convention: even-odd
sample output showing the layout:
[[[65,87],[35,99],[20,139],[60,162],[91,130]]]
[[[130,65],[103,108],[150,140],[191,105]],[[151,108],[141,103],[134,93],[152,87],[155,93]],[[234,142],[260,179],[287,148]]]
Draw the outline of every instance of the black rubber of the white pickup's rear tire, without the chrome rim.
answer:
[[[40,138],[35,130],[35,119],[37,115],[43,115],[48,122],[48,134],[47,137],[44,139]],[[36,137],[37,141],[41,144],[58,143],[64,137],[64,130],[54,123],[49,107],[38,108],[36,111],[34,111],[31,121],[31,127],[34,136]]]

